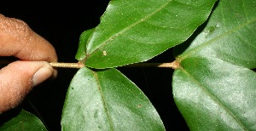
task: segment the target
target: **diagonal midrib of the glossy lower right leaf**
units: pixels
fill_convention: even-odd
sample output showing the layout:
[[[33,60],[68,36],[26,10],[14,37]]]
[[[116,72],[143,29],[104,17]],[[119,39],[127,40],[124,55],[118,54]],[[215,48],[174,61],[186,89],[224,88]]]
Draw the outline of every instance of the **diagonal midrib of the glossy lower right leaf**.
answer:
[[[195,77],[193,77],[193,75],[191,75],[188,71],[186,71],[185,69],[183,68],[180,68],[181,71],[183,71],[185,74],[187,74],[197,85],[198,87],[200,87],[206,94],[208,94],[208,96],[210,96],[210,98],[215,101],[220,107],[222,107],[224,109],[224,111],[228,112],[230,114],[230,116],[241,126],[241,128],[243,128],[244,130],[247,130],[245,125],[240,122],[236,116],[234,115],[234,113],[230,110],[228,110],[228,108],[226,108],[219,100],[218,98],[214,97],[213,94],[211,94],[206,87],[203,86],[203,84],[200,84],[200,82],[195,79]]]

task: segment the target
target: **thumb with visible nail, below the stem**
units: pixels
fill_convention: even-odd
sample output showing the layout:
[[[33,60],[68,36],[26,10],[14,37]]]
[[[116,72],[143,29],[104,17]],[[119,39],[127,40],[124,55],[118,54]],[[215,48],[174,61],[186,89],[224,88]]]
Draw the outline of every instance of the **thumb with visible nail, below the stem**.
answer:
[[[32,87],[56,71],[45,61],[15,61],[0,70],[0,114],[19,105]]]

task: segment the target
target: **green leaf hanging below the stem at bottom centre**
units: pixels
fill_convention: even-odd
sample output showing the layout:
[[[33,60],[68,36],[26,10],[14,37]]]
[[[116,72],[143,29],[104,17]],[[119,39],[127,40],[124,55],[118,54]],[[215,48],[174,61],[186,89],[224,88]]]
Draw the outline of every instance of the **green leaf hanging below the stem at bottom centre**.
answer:
[[[62,130],[165,130],[143,92],[116,69],[80,69],[67,91]]]

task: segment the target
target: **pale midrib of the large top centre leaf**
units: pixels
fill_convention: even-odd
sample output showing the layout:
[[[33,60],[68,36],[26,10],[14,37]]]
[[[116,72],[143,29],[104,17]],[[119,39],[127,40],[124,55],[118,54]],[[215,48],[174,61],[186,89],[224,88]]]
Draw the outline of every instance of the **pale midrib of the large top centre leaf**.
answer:
[[[123,30],[119,31],[118,33],[116,33],[115,35],[113,35],[112,37],[109,37],[108,40],[106,40],[104,43],[102,43],[101,46],[99,46],[98,48],[96,48],[94,51],[92,51],[90,54],[94,54],[97,50],[99,50],[100,48],[102,48],[104,45],[106,45],[107,43],[109,43],[110,41],[113,40],[113,38],[118,37],[119,35],[121,35],[122,33],[124,33],[125,31],[128,31],[129,29],[131,29],[134,26],[137,26],[138,24],[142,23],[145,20],[148,20],[151,16],[153,16],[154,14],[157,14],[158,12],[160,12],[161,9],[164,9],[169,3],[171,3],[173,0],[169,0],[168,2],[166,2],[165,4],[163,4],[162,6],[160,6],[159,9],[154,10],[153,13],[146,15],[145,17],[143,17],[140,20],[137,20],[137,22],[131,24],[130,26],[125,27]],[[96,31],[96,30],[95,30]],[[88,52],[88,50],[86,51]],[[87,54],[87,58],[90,57],[90,54]]]

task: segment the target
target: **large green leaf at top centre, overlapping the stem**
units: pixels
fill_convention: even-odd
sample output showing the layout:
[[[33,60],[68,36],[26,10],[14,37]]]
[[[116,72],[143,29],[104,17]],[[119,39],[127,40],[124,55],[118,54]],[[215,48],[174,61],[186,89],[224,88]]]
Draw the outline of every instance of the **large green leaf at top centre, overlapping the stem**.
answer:
[[[108,68],[149,60],[185,41],[216,0],[114,0],[86,45],[85,65]]]

